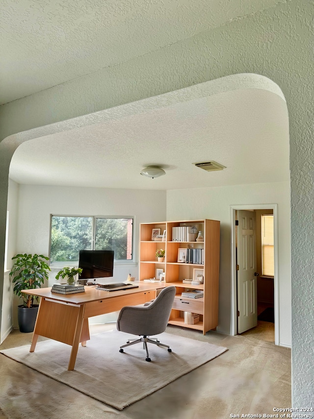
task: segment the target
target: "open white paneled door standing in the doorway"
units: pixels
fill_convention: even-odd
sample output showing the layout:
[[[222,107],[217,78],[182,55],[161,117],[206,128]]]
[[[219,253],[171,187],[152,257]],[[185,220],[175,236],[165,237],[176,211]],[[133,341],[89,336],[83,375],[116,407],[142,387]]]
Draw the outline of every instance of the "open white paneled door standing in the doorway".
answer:
[[[237,213],[237,333],[243,333],[257,326],[256,216]]]

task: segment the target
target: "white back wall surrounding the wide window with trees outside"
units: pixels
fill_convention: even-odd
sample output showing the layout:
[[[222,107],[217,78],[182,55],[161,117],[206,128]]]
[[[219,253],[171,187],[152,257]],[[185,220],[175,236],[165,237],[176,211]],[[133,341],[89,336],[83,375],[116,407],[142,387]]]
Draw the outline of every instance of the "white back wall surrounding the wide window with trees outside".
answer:
[[[45,255],[49,255],[50,214],[134,216],[136,263],[115,265],[113,280],[126,280],[129,272],[138,279],[139,224],[165,220],[166,193],[148,190],[20,185],[17,206],[16,252]],[[57,271],[57,268],[52,268],[47,286],[56,281],[54,277]],[[14,327],[17,327],[15,321]]]

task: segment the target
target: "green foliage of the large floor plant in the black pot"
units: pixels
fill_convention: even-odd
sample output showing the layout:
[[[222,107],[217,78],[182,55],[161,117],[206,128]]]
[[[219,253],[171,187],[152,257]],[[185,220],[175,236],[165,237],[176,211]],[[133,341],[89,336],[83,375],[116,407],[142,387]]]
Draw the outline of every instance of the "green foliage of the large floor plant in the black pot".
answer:
[[[23,307],[32,307],[34,299],[37,298],[33,295],[23,294],[23,289],[40,288],[45,279],[49,278],[49,271],[51,270],[46,260],[49,257],[43,254],[27,254],[19,253],[12,257],[15,260],[10,277],[13,277],[12,282],[15,283],[13,292],[15,295],[23,299]]]

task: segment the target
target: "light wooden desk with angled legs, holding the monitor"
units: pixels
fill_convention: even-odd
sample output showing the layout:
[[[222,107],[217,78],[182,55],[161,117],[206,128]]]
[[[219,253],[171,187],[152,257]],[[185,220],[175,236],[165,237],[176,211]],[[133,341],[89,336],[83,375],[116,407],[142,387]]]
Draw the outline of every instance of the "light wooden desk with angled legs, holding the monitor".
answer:
[[[22,291],[41,297],[29,352],[34,352],[38,336],[45,336],[72,346],[68,370],[73,370],[78,344],[86,346],[90,339],[88,317],[118,311],[124,306],[136,306],[156,298],[156,290],[164,283],[138,282],[138,288],[103,291],[85,286],[85,292],[56,294],[51,288]]]

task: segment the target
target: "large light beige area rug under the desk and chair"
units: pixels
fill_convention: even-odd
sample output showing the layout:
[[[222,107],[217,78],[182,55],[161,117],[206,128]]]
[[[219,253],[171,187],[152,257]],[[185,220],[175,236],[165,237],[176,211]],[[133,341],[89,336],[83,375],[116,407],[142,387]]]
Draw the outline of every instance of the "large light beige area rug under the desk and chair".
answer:
[[[79,346],[73,371],[67,370],[71,347],[51,339],[38,342],[32,353],[30,345],[0,353],[122,410],[227,351],[207,342],[162,333],[158,340],[169,345],[172,352],[151,344],[152,362],[147,362],[141,343],[119,352],[130,338],[116,330],[91,335],[86,347]]]

